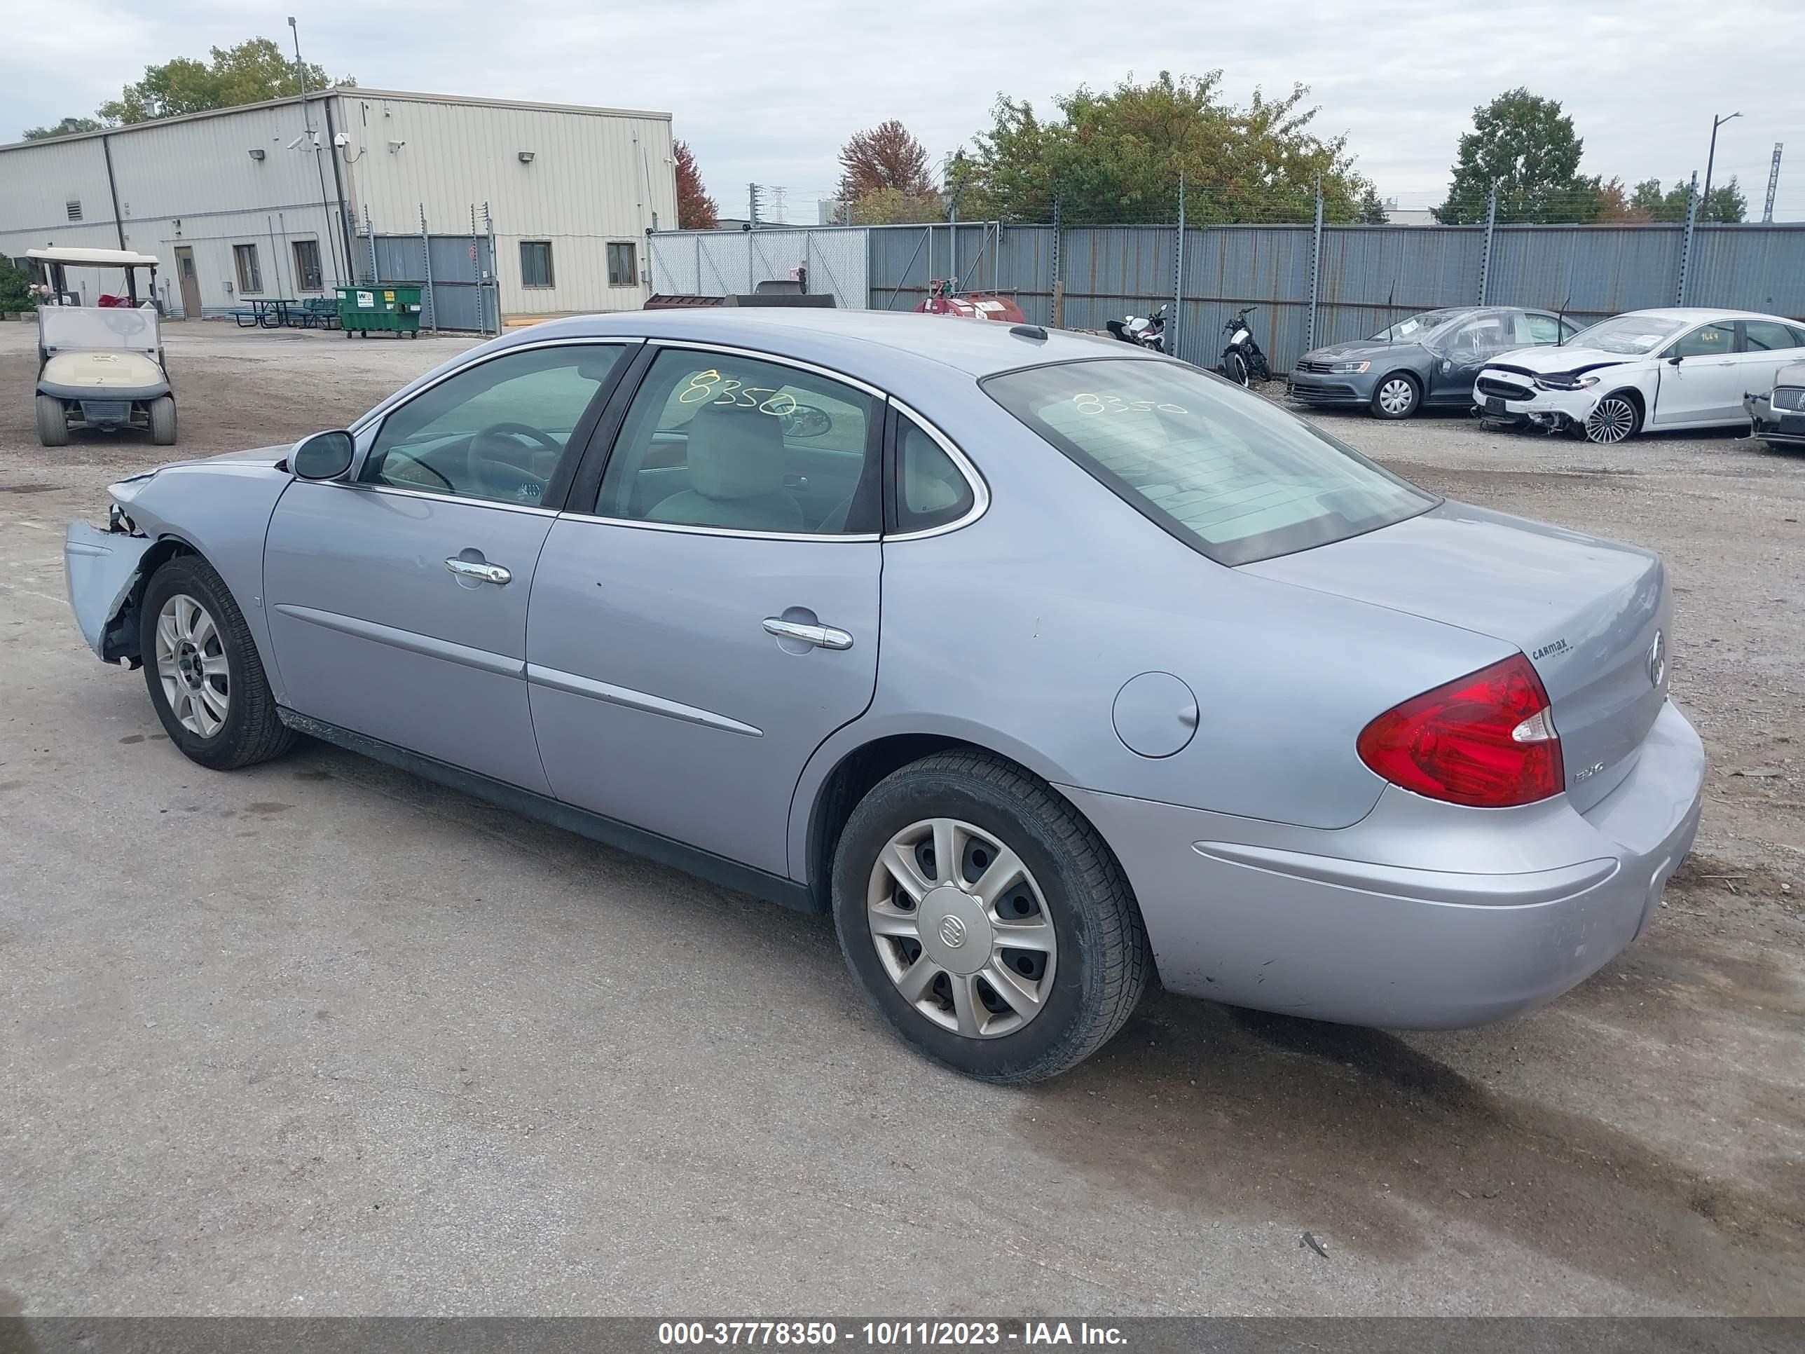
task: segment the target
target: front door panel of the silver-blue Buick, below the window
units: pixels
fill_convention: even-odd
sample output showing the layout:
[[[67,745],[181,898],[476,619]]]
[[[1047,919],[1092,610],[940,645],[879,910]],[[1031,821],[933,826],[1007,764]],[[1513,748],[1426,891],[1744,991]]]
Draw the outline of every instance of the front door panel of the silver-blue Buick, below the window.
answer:
[[[527,708],[532,567],[552,515],[296,480],[264,547],[294,709],[551,793]],[[448,560],[500,565],[504,585]]]

